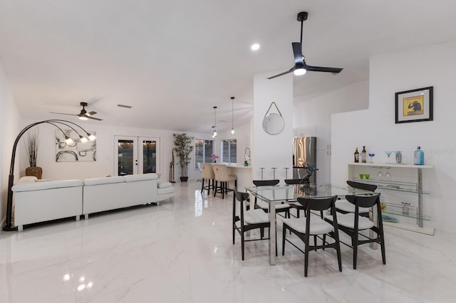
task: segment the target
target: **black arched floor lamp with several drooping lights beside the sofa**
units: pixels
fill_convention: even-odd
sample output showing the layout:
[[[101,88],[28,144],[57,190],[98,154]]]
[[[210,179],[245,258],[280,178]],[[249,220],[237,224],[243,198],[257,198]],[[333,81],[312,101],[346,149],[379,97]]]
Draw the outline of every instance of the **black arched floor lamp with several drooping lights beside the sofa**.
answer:
[[[63,132],[63,129],[58,127],[58,124],[65,125],[66,127],[70,127],[71,129],[73,129],[79,135],[79,139],[81,139],[81,141],[83,141],[83,142],[86,141],[87,139],[90,141],[93,141],[96,139],[96,137],[93,134],[90,134],[89,132],[86,131],[86,129],[83,129],[78,124],[70,122],[70,121],[66,121],[66,120],[61,120],[61,119],[43,120],[40,122],[34,122],[34,123],[29,124],[28,126],[24,127],[24,129],[22,129],[21,132],[19,132],[19,134],[17,135],[16,140],[14,140],[13,153],[11,154],[11,164],[9,166],[9,179],[8,179],[8,200],[6,201],[6,222],[3,227],[4,231],[17,230],[17,227],[14,227],[11,222],[12,210],[13,210],[13,191],[11,190],[11,188],[13,187],[13,183],[14,183],[14,161],[16,159],[17,144],[19,143],[19,139],[21,139],[22,135],[25,134],[28,131],[28,129],[31,129],[32,127],[35,127],[36,125],[43,124],[43,123],[52,124],[53,126],[57,127],[63,133],[63,136],[65,136],[65,141],[67,144],[69,142],[71,142],[72,139],[70,137],[68,137],[65,132]],[[83,132],[86,133],[86,136],[82,136],[81,134],[79,134],[79,132],[76,131],[76,129],[74,129],[73,127],[71,127],[71,125],[82,129]]]

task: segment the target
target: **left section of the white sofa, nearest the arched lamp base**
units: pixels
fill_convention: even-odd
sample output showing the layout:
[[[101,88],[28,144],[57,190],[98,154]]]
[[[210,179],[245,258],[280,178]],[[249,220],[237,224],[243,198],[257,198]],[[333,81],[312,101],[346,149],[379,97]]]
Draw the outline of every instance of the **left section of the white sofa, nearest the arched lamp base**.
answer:
[[[14,225],[23,225],[76,217],[83,211],[83,182],[63,180],[37,182],[36,177],[22,177],[12,188],[14,192]]]

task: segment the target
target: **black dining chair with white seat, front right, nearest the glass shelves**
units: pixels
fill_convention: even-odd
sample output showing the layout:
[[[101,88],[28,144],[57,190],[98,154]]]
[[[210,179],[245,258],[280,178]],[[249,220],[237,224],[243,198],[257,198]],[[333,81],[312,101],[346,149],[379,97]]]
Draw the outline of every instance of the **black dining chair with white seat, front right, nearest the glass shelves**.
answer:
[[[380,193],[363,196],[346,196],[346,200],[355,206],[354,213],[344,213],[337,216],[338,229],[346,233],[351,238],[351,245],[342,243],[350,248],[353,248],[353,269],[356,270],[356,259],[358,256],[358,246],[366,243],[380,244],[382,252],[383,264],[386,264],[385,258],[385,237],[383,235],[383,220],[382,210],[380,208]],[[376,208],[377,220],[375,222],[369,220],[365,216],[361,216],[361,208]],[[326,221],[333,222],[332,216],[325,216]],[[364,235],[361,230],[371,230],[372,235]]]

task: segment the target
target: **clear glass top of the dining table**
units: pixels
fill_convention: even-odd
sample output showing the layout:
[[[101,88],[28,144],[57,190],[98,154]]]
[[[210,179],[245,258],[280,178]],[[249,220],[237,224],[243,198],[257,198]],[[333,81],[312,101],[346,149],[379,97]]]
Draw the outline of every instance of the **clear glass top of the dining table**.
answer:
[[[349,186],[333,186],[326,184],[318,186],[282,185],[282,186],[252,186],[245,188],[248,193],[252,193],[263,201],[296,201],[297,198],[323,198],[329,196],[346,196],[353,194],[368,194],[371,191],[351,188]]]

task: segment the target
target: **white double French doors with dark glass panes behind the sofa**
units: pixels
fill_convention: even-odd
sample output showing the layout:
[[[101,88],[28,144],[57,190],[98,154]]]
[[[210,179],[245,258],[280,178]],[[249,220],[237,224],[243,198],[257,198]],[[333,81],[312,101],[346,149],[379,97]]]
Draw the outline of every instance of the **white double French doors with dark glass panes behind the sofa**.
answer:
[[[160,173],[160,138],[114,137],[116,176]]]

